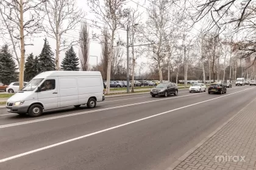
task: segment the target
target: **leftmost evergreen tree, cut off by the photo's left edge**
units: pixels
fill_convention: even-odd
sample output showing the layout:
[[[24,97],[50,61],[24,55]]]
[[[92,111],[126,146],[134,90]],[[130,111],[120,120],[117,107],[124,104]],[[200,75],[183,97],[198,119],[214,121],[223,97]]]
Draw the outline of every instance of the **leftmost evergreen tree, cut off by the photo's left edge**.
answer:
[[[18,77],[15,61],[12,54],[9,52],[8,46],[2,46],[0,51],[0,81],[4,84],[9,84],[10,81],[15,81]]]

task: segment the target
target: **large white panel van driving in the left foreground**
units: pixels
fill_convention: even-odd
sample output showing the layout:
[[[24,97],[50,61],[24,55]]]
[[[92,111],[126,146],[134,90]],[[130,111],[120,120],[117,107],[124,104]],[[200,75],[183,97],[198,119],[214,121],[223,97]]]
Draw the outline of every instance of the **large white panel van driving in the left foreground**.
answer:
[[[8,112],[38,117],[43,110],[82,104],[93,108],[104,100],[101,72],[51,71],[34,77],[7,100],[6,108]]]

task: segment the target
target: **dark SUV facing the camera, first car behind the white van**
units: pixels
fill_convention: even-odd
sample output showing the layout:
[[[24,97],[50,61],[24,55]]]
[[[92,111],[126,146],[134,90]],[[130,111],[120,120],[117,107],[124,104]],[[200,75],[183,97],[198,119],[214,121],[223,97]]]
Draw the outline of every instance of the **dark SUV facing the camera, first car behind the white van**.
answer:
[[[150,94],[152,97],[155,97],[156,95],[162,95],[165,97],[168,97],[168,95],[178,94],[178,86],[175,83],[160,83],[157,85],[157,87],[151,89]]]

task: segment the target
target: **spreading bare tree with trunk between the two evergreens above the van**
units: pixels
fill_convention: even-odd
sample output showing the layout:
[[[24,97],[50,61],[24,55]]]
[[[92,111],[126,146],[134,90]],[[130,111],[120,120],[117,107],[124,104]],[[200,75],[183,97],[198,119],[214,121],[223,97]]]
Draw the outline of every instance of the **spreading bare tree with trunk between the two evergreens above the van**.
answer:
[[[44,25],[46,35],[55,39],[56,42],[56,69],[60,69],[59,55],[62,50],[73,46],[77,41],[69,42],[63,37],[63,33],[76,28],[77,24],[84,17],[74,0],[48,0],[44,3],[46,21],[49,25]]]

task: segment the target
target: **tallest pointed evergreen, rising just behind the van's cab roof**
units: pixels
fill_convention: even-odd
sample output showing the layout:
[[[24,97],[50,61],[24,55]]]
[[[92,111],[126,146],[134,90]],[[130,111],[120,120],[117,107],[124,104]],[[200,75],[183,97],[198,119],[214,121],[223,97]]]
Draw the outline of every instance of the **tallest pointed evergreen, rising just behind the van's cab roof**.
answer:
[[[49,42],[45,38],[43,49],[38,58],[40,72],[55,70],[55,62],[52,56],[54,56],[54,53],[51,50]]]

